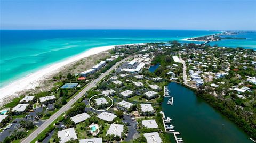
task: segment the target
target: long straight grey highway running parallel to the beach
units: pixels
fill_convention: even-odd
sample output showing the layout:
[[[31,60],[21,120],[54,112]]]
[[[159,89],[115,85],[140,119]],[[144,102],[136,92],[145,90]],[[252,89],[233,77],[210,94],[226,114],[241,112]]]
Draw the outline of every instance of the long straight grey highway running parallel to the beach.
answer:
[[[53,114],[49,119],[47,119],[40,127],[38,127],[33,133],[31,133],[27,138],[25,138],[22,143],[28,143],[33,141],[38,134],[40,134],[44,129],[46,129],[55,119],[57,119],[57,117],[59,117],[62,113],[64,113],[65,111],[69,110],[71,108],[71,106],[79,99],[81,98],[86,91],[88,91],[89,89],[95,87],[97,85],[97,83],[102,80],[106,75],[108,75],[112,70],[114,70],[115,68],[117,68],[117,66],[119,64],[121,64],[122,62],[125,62],[128,58],[124,58],[123,60],[117,62],[115,65],[113,65],[109,70],[107,70],[105,73],[102,73],[100,75],[99,78],[93,80],[91,83],[89,83],[89,85],[87,85],[87,87],[85,87],[81,92],[79,92],[73,99],[71,99],[66,105],[64,105],[62,108],[60,108],[60,110],[58,112],[56,112],[55,114]]]

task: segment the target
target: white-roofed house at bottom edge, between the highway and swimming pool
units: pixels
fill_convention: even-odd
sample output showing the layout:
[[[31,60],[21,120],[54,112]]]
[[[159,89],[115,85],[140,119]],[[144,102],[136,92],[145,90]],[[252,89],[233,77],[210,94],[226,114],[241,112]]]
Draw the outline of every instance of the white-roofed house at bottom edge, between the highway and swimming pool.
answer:
[[[58,138],[60,138],[60,143],[65,143],[70,140],[76,140],[76,132],[74,128],[68,128],[62,131],[58,131]]]

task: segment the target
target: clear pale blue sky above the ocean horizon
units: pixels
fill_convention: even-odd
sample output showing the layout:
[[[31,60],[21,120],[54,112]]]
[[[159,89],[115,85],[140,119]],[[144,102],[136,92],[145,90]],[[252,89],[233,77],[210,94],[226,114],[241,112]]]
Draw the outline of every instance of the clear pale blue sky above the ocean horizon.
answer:
[[[0,0],[1,29],[256,30],[256,0]]]

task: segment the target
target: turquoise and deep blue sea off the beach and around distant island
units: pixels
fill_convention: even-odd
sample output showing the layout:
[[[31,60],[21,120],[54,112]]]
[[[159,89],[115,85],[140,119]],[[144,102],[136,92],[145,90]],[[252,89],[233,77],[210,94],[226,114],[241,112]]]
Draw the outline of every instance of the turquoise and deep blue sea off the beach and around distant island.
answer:
[[[0,87],[93,47],[181,40],[213,33],[220,33],[220,31],[0,30]],[[223,40],[210,44],[256,48],[255,32],[245,33],[242,37],[249,39]]]

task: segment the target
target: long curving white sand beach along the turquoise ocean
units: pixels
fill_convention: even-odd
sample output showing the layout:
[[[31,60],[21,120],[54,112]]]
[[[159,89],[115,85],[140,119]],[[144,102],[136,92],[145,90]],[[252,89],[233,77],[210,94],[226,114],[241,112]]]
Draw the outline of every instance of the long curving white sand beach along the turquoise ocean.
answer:
[[[135,43],[135,44],[143,44],[143,43]],[[130,44],[122,44],[122,45],[130,45]],[[81,60],[82,58],[89,57],[91,55],[96,55],[101,52],[107,51],[109,49],[113,49],[115,46],[118,46],[118,45],[100,46],[100,47],[94,47],[94,48],[88,49],[80,54],[71,56],[65,60],[42,67],[37,71],[30,73],[25,77],[22,77],[16,81],[14,80],[8,85],[0,88],[1,105],[3,105],[3,103],[5,104],[6,99],[10,100],[10,98],[13,99],[15,97],[19,97],[21,95],[20,92],[24,90],[35,89],[37,86],[40,85],[42,81],[61,71],[61,69],[64,66],[74,63],[77,60]]]

